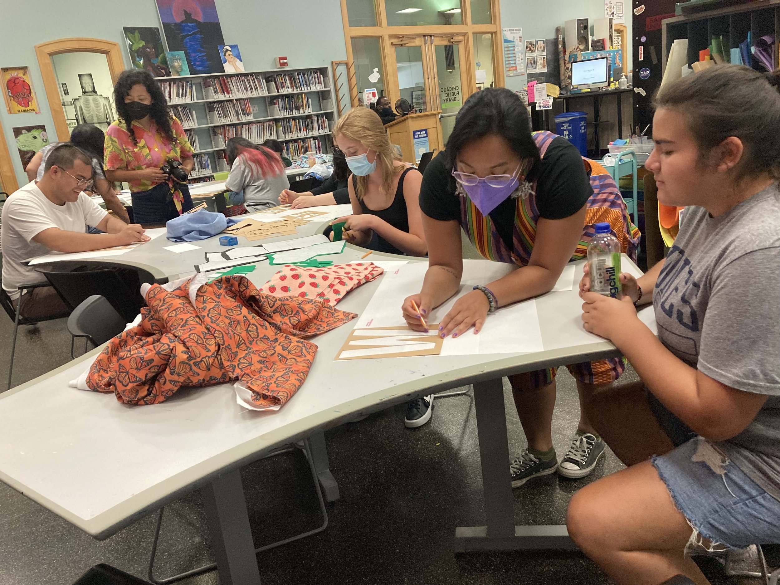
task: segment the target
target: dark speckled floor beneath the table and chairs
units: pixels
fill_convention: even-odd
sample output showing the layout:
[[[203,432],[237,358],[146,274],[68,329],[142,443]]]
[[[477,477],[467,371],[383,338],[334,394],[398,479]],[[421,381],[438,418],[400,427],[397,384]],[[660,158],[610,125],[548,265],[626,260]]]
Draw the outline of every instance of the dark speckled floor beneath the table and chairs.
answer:
[[[11,332],[12,323],[2,316],[0,339],[8,340],[8,345],[0,353],[0,390],[5,389]],[[66,363],[69,346],[65,320],[32,331],[23,328],[15,385]],[[509,392],[505,398],[510,450],[516,451],[524,445],[523,433]],[[553,425],[559,454],[576,428],[578,409],[573,378],[564,369],[558,376]],[[326,433],[341,499],[328,505],[327,530],[257,555],[264,584],[609,583],[579,553],[453,554],[455,527],[484,523],[473,401],[466,395],[435,402],[431,423],[415,431],[403,427],[403,415],[399,406]],[[552,475],[516,489],[516,523],[562,523],[574,491],[620,467],[608,452],[592,477],[567,480]],[[257,546],[311,530],[321,522],[314,485],[300,452],[247,466],[243,484]],[[145,577],[153,531],[154,516],[148,516],[98,542],[0,484],[0,585],[69,585],[99,562]],[[200,495],[169,505],[156,576],[170,576],[211,560]],[[720,565],[711,559],[703,565],[714,585],[758,583],[725,580]],[[215,585],[219,580],[216,573],[209,573],[182,583]]]

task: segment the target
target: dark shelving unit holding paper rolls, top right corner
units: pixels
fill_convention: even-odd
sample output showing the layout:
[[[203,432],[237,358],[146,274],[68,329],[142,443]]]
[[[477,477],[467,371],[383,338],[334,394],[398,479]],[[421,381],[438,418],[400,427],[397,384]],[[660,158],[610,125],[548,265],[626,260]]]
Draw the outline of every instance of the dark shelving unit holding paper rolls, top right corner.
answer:
[[[757,0],[722,9],[690,12],[661,23],[663,54],[661,66],[677,39],[688,39],[688,65],[699,60],[699,51],[706,49],[714,36],[723,37],[724,51],[739,48],[747,34],[753,39],[775,34],[775,67],[778,66],[778,39],[780,39],[780,0]],[[728,43],[726,42],[728,41]]]

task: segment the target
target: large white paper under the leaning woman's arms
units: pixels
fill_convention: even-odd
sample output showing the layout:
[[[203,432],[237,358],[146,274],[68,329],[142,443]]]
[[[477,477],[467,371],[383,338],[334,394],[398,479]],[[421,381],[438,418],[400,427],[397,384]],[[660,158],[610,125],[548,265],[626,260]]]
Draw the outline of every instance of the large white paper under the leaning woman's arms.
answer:
[[[427,271],[427,262],[414,262],[385,271],[374,296],[357,318],[355,328],[398,327],[406,324],[401,305],[407,296],[418,293]],[[438,323],[461,296],[473,285],[491,282],[508,275],[516,267],[486,260],[463,261],[463,278],[458,293],[425,316],[428,323]],[[461,337],[447,337],[441,346],[442,356],[476,353],[530,353],[544,349],[536,301],[527,300],[502,307],[488,318],[478,335],[473,329]]]

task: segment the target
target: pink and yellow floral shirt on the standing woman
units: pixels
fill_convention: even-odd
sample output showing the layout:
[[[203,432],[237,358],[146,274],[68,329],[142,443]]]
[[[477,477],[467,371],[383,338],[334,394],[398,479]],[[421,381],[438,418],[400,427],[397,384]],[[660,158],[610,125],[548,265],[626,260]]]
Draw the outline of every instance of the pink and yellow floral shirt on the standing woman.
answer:
[[[149,130],[133,121],[133,132],[138,144],[133,144],[133,138],[127,131],[122,120],[115,120],[105,133],[105,169],[107,171],[140,171],[144,168],[160,168],[167,160],[182,161],[193,155],[193,147],[187,140],[182,122],[176,116],[171,116],[171,129],[174,142],[165,138],[158,131],[154,120]],[[157,185],[154,181],[137,179],[129,181],[133,193],[150,190]]]

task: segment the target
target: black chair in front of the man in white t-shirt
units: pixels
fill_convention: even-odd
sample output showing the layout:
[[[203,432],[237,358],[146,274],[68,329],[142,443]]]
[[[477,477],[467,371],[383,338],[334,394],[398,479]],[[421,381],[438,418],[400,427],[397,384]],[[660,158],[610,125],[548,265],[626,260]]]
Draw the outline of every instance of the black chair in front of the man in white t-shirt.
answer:
[[[39,264],[35,270],[46,277],[72,310],[87,297],[105,296],[126,323],[133,321],[144,306],[144,299],[140,295],[141,283],[154,282],[154,277],[147,271],[108,268],[105,264],[79,261]]]

